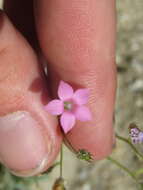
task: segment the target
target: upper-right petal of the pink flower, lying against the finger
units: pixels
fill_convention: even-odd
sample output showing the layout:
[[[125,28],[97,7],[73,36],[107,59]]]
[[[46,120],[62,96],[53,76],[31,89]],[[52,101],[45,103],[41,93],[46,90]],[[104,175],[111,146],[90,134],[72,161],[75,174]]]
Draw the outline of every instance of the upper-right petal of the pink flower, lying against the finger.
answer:
[[[89,98],[89,90],[88,89],[79,89],[76,90],[73,96],[74,101],[78,105],[86,104]]]

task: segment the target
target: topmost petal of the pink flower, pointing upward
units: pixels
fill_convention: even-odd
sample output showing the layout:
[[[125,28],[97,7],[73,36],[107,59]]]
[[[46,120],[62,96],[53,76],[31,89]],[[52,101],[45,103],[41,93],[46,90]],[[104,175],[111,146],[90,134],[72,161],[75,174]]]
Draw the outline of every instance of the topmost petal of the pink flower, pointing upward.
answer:
[[[73,88],[64,81],[61,81],[58,88],[58,96],[61,100],[70,99],[73,96]]]

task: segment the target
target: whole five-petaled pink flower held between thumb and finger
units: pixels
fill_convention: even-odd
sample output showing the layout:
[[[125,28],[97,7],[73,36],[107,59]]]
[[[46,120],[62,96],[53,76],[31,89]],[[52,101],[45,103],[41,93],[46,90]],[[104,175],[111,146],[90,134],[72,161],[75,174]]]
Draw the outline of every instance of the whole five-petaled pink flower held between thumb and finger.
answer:
[[[58,87],[59,99],[50,101],[45,109],[52,115],[61,115],[60,123],[65,133],[70,131],[77,120],[91,120],[90,110],[84,106],[89,97],[88,89],[78,89],[75,92],[73,88],[64,81],[61,81]]]

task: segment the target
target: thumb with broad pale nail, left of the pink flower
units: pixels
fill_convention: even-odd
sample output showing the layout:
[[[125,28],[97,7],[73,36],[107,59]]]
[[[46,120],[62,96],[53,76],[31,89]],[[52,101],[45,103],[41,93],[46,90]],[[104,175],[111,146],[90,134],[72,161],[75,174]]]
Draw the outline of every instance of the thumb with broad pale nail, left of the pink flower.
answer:
[[[58,154],[61,134],[43,109],[48,96],[37,57],[4,13],[0,73],[0,160],[19,176],[40,173]]]

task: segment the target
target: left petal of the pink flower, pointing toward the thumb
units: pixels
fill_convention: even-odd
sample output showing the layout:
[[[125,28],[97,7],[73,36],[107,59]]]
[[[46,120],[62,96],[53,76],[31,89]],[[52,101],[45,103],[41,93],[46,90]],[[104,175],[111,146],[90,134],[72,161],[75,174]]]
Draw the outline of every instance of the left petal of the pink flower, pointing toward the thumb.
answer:
[[[52,115],[60,115],[64,111],[64,105],[61,100],[52,100],[46,106],[45,110],[47,110]]]

